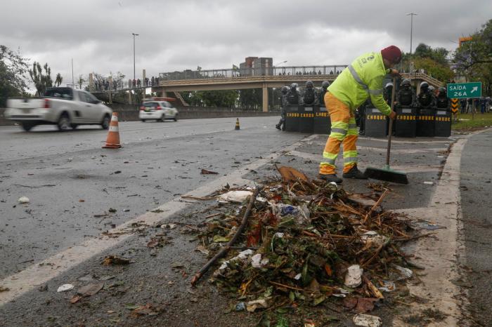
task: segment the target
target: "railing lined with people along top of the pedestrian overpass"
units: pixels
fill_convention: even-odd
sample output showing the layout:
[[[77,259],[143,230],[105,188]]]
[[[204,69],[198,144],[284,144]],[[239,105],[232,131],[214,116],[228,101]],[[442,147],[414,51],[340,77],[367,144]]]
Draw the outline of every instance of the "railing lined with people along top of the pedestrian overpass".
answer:
[[[159,81],[179,81],[185,79],[227,79],[250,76],[295,76],[295,75],[337,75],[347,65],[332,66],[291,66],[291,67],[247,67],[238,69],[209,69],[159,74]]]

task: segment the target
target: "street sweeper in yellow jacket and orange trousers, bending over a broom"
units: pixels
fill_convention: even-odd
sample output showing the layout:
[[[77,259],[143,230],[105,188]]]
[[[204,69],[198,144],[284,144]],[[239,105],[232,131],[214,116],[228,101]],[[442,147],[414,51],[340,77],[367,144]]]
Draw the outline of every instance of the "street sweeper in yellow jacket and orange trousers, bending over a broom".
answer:
[[[357,168],[357,126],[354,112],[370,97],[373,105],[389,116],[396,118],[394,111],[383,98],[382,83],[386,74],[398,76],[396,69],[391,69],[401,60],[401,51],[396,46],[389,46],[380,52],[365,53],[356,58],[345,68],[330,85],[325,94],[325,105],[331,119],[331,133],[323,151],[319,177],[328,182],[342,182],[335,173],[340,144],[344,150],[343,178],[366,179]]]

